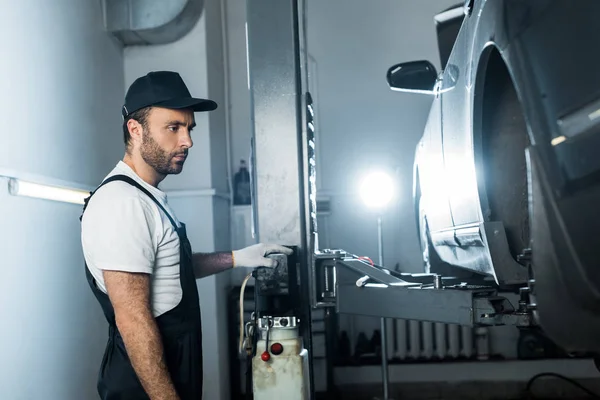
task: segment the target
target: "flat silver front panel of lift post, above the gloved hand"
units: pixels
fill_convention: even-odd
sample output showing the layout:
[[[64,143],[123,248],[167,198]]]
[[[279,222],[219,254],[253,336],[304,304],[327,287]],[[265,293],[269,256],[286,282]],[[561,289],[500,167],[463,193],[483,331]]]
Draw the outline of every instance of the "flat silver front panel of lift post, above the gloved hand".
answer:
[[[255,233],[261,242],[300,246],[304,193],[295,2],[247,0],[246,6]]]

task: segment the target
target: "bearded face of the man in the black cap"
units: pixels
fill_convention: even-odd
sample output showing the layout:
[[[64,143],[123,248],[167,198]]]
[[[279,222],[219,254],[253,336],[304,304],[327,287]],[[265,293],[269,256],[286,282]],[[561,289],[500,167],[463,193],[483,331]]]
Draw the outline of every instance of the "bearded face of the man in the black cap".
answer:
[[[179,174],[193,145],[194,113],[154,107],[146,125],[140,146],[144,161],[159,174]]]

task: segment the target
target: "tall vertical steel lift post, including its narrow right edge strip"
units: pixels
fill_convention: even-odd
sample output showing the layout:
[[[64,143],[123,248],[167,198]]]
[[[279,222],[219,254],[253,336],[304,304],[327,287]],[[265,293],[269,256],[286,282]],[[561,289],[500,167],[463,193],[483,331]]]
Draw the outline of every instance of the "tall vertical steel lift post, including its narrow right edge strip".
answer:
[[[253,231],[260,242],[298,249],[301,335],[312,371],[312,257],[303,0],[246,0],[252,117]]]

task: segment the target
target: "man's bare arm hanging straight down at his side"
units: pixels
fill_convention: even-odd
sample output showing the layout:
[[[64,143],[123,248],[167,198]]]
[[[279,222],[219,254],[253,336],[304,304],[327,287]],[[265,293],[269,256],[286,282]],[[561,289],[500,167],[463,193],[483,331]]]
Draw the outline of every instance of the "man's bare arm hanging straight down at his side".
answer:
[[[117,328],[144,390],[152,400],[179,400],[150,310],[150,275],[103,271]]]

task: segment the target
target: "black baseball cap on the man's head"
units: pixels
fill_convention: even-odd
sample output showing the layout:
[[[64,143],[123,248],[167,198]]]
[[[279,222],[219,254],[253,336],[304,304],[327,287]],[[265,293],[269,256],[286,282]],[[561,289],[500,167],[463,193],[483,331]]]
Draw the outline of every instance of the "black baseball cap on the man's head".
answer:
[[[129,114],[150,106],[213,111],[217,108],[217,103],[192,97],[177,72],[155,71],[136,79],[129,86],[121,112],[123,118],[126,118]]]

